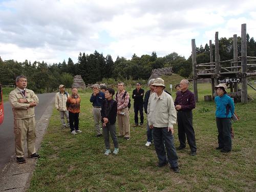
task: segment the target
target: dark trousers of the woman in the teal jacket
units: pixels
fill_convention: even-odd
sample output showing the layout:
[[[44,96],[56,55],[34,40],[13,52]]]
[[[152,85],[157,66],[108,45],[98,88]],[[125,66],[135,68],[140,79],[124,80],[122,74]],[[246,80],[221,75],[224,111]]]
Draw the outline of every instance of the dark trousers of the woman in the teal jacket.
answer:
[[[216,117],[216,124],[218,128],[218,143],[219,147],[224,150],[231,151],[232,141],[231,141],[231,120],[230,118],[218,118]]]

